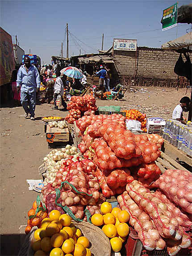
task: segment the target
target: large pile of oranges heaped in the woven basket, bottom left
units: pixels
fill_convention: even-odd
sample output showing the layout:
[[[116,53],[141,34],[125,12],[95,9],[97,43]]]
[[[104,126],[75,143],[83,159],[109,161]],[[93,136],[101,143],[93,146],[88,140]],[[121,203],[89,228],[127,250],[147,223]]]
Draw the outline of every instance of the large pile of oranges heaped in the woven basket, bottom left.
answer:
[[[52,210],[34,232],[34,256],[91,256],[89,240],[71,220],[69,215]]]

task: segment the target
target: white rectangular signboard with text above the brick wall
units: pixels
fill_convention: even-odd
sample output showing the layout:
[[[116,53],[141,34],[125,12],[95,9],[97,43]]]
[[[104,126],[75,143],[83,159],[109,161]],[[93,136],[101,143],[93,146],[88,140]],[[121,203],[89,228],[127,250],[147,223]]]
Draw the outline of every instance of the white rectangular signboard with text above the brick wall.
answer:
[[[113,39],[113,50],[137,50],[136,39]]]

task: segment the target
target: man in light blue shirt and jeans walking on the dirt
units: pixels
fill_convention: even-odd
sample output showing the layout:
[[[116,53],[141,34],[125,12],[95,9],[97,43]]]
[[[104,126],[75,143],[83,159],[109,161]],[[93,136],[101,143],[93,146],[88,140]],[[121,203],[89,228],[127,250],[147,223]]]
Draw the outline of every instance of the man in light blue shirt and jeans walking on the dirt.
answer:
[[[25,110],[25,118],[30,114],[31,120],[35,120],[36,92],[41,84],[37,67],[31,65],[29,57],[25,57],[17,73],[17,91],[21,89],[21,105]],[[29,107],[28,107],[29,104]]]

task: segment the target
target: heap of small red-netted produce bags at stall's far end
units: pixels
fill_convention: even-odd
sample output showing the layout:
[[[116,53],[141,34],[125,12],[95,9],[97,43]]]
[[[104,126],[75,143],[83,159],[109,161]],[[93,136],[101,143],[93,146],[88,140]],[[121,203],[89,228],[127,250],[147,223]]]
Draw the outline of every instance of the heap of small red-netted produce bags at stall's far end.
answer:
[[[71,101],[67,105],[67,110],[69,110],[69,114],[66,116],[65,120],[73,124],[75,120],[78,120],[84,113],[88,113],[88,111],[92,111],[92,114],[93,112],[95,113],[97,110],[96,98],[90,94],[86,94],[83,97],[72,96]]]

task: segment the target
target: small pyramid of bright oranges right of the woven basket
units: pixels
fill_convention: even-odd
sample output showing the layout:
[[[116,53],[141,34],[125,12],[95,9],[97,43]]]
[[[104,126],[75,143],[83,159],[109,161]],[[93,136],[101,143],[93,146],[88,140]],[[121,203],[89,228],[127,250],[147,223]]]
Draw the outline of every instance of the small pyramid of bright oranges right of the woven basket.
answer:
[[[113,251],[119,252],[129,234],[129,226],[126,222],[129,221],[130,215],[126,210],[121,210],[118,207],[112,209],[109,202],[102,203],[100,210],[104,215],[93,214],[92,224],[97,227],[103,226],[102,231],[110,238]]]

